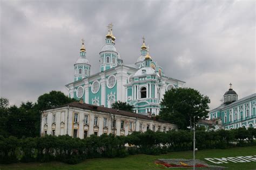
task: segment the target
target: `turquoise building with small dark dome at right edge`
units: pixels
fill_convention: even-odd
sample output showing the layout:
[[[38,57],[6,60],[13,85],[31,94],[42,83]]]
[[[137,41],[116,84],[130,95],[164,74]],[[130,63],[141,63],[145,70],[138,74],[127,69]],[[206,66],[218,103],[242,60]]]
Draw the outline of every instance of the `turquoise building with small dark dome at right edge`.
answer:
[[[223,103],[208,113],[210,121],[218,128],[256,128],[256,93],[238,100],[238,94],[232,89],[226,91]]]

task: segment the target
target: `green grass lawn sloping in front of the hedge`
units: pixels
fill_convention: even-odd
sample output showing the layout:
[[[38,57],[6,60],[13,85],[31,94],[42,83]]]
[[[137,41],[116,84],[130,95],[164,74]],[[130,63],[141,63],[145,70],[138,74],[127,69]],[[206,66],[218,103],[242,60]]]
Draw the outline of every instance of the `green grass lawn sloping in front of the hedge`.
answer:
[[[238,157],[256,155],[256,146],[253,147],[235,147],[228,150],[202,150],[197,151],[196,159],[204,160],[204,158],[221,158],[221,157]],[[163,166],[155,165],[154,160],[158,158],[184,158],[192,159],[193,152],[171,152],[162,155],[129,155],[126,158],[98,158],[87,159],[77,165],[68,165],[61,162],[48,162],[48,163],[19,163],[10,165],[0,165],[0,169],[163,169]],[[207,162],[211,164],[211,162]],[[217,164],[212,164],[217,165]],[[229,169],[256,169],[256,162],[218,164],[225,166]],[[169,169],[169,168],[166,168]],[[178,169],[178,168],[175,168]],[[187,169],[187,168],[186,168]]]

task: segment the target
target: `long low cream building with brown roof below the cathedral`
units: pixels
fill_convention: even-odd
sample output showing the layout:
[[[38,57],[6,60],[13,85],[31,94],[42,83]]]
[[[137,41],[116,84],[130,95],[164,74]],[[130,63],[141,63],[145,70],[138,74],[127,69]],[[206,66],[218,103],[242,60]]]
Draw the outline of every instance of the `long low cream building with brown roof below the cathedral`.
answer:
[[[73,102],[56,109],[45,110],[41,115],[41,136],[68,134],[81,139],[96,134],[127,135],[133,131],[163,131],[177,129],[174,124],[157,120],[151,115],[140,115],[86,103]]]

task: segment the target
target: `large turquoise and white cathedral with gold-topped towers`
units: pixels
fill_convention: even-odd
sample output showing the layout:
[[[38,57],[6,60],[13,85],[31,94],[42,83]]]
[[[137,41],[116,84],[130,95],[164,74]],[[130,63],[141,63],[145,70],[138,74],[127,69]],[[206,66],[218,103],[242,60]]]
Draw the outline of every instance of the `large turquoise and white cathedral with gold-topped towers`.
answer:
[[[91,65],[86,59],[84,40],[80,56],[74,65],[73,82],[66,84],[71,98],[84,103],[111,108],[116,101],[134,106],[134,112],[146,115],[159,114],[161,98],[171,88],[183,87],[185,82],[165,75],[149,54],[143,38],[140,55],[134,63],[123,63],[115,47],[112,24],[108,26],[105,44],[99,52],[99,72],[91,75]]]

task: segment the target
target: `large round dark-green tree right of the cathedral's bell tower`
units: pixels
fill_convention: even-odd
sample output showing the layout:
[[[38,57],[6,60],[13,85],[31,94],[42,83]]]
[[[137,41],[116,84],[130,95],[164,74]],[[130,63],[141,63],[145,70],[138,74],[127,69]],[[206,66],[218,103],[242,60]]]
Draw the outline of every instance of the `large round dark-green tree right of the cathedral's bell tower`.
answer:
[[[166,91],[164,99],[160,103],[159,116],[185,130],[194,122],[194,116],[196,123],[199,119],[207,117],[208,103],[210,103],[208,96],[201,95],[195,89],[172,88]]]

